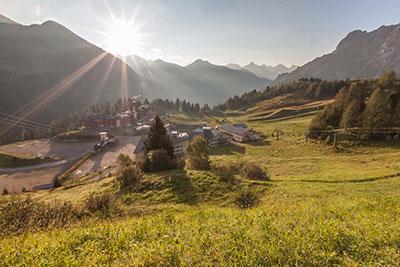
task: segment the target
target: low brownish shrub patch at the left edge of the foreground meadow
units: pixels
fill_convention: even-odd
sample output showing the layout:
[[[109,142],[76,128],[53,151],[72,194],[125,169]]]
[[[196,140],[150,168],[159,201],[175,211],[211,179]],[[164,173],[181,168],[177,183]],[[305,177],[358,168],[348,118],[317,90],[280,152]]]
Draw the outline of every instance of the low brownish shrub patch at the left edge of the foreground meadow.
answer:
[[[0,214],[0,235],[64,226],[80,217],[80,211],[69,202],[45,203],[14,195],[0,199]]]

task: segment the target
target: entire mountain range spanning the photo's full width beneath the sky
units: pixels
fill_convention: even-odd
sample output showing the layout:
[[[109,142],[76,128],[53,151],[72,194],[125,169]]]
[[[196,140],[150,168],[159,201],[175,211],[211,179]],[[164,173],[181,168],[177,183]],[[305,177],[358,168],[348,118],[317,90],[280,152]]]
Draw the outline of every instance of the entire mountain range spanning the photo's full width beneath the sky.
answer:
[[[213,105],[262,89],[276,75],[272,85],[304,77],[375,78],[389,70],[400,73],[400,24],[353,31],[332,53],[301,67],[201,59],[180,66],[138,56],[121,60],[57,22],[25,26],[0,15],[0,111],[45,123],[136,94]]]

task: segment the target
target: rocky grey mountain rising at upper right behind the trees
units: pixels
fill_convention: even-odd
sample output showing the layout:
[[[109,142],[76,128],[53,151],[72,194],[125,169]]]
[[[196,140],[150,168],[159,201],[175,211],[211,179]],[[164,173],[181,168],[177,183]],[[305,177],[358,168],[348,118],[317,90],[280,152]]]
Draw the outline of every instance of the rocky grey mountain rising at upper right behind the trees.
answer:
[[[382,26],[371,32],[353,31],[335,51],[280,75],[274,84],[308,77],[325,80],[377,78],[390,70],[400,72],[400,24]]]

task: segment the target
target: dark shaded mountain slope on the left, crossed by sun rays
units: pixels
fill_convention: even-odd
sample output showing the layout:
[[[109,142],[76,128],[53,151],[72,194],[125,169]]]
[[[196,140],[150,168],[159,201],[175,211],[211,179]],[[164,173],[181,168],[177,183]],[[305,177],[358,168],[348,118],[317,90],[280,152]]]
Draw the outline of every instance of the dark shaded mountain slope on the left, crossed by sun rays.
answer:
[[[54,21],[0,23],[2,112],[48,123],[119,97],[152,97],[158,87]]]

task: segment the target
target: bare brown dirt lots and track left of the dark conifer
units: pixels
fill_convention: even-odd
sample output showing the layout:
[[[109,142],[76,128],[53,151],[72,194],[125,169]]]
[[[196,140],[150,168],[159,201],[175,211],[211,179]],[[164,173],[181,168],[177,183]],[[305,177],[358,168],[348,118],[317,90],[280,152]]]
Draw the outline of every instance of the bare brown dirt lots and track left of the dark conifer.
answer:
[[[77,169],[73,176],[82,177],[95,170],[111,166],[118,155],[133,155],[138,136],[120,137],[119,144],[106,151],[94,155]],[[48,139],[16,143],[0,147],[0,152],[25,156],[53,156],[61,160],[40,165],[15,169],[0,169],[0,190],[7,188],[9,192],[39,190],[48,188],[55,176],[60,176],[71,168],[81,157],[89,153],[94,142],[57,143]]]

